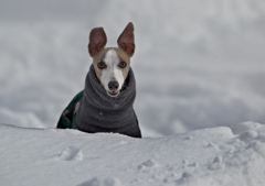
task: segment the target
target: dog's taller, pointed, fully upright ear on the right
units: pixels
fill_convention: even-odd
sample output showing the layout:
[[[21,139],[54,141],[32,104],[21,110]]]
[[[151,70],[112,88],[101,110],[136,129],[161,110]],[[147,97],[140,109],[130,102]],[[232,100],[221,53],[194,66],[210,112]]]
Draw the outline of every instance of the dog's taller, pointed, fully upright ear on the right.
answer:
[[[118,37],[118,46],[131,57],[135,53],[135,35],[134,35],[134,24],[129,22],[125,28],[124,32]]]

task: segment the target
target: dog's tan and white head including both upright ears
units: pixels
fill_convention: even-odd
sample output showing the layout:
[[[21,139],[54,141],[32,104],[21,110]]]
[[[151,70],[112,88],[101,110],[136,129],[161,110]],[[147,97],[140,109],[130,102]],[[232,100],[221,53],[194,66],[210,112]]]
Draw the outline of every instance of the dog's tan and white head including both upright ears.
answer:
[[[110,97],[118,96],[130,65],[130,57],[135,52],[134,24],[129,22],[118,37],[118,47],[105,47],[107,36],[103,28],[95,28],[89,34],[88,53],[93,57],[93,65]]]

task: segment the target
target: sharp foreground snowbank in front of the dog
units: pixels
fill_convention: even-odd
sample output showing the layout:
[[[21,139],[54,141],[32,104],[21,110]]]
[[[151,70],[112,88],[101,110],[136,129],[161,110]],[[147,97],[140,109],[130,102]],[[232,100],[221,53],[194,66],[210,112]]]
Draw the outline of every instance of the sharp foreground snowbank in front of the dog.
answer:
[[[262,186],[265,125],[162,138],[0,124],[1,186]]]

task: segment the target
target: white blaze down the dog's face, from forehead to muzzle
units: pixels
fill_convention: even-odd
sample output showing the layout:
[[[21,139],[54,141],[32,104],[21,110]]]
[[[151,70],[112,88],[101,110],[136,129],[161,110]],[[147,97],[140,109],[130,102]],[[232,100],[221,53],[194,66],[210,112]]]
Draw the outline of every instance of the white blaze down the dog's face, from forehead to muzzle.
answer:
[[[121,69],[118,67],[120,59],[117,53],[114,50],[109,50],[103,61],[107,65],[107,67],[102,70],[100,77],[104,88],[109,90],[108,83],[112,80],[117,80],[119,84],[118,90],[120,90],[125,79]]]

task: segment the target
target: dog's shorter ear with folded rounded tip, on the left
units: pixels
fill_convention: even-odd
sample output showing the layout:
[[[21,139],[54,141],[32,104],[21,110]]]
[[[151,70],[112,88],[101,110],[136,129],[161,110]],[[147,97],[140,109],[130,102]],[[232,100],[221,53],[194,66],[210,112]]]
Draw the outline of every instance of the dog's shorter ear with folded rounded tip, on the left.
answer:
[[[102,51],[107,43],[107,36],[103,28],[95,28],[89,34],[88,53],[91,56],[95,56],[99,51]]]

